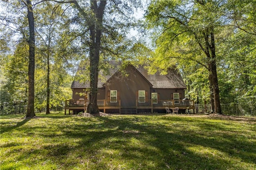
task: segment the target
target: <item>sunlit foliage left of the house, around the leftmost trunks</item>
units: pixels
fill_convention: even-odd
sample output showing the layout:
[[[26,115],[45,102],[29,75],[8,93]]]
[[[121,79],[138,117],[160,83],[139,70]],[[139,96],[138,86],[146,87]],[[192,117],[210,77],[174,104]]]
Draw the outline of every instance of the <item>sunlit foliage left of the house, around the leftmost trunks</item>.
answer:
[[[8,4],[8,2],[2,3]],[[59,18],[56,15],[53,16],[60,8],[51,5],[52,4],[50,2],[46,2],[38,4],[37,8],[34,8],[34,13],[37,16],[35,20],[37,46],[35,49],[35,107],[37,111],[40,111],[42,108],[46,107],[47,59],[45,55],[49,54],[49,52],[52,54],[50,59],[50,69],[53,72],[50,80],[50,106],[52,109],[56,107],[62,108],[64,105],[64,100],[66,98],[70,98],[72,93],[70,89],[72,78],[67,73],[68,68],[72,66],[69,64],[71,55],[67,53],[64,55],[64,52],[69,51],[67,46],[70,45],[70,43],[65,43],[66,46],[62,45],[61,43],[58,46],[56,46],[56,44],[58,41],[61,41],[64,38],[66,42],[72,41],[73,37],[67,37],[66,35],[62,34],[60,24],[64,25],[64,23],[60,22],[60,14]],[[1,36],[4,38],[1,42],[6,42],[7,47],[13,46],[9,49],[5,48],[6,50],[3,53],[4,62],[2,62],[3,66],[1,70],[3,75],[6,77],[6,80],[4,81],[4,84],[1,84],[1,102],[8,102],[9,105],[13,105],[15,102],[20,103],[20,101],[23,101],[24,104],[26,104],[28,98],[28,46],[26,45],[28,31],[26,29],[28,28],[28,23],[25,17],[20,17],[20,14],[24,12],[24,7],[22,7],[22,4],[19,4],[19,2],[10,2],[4,8],[8,8],[9,10],[8,13],[6,13],[6,16],[3,16],[3,13],[1,15],[4,23],[2,27],[4,32],[1,34]],[[53,14],[51,15],[48,12],[52,12]],[[26,16],[26,12],[24,12],[24,16]],[[52,18],[48,17],[47,20],[43,20],[45,16],[51,16]],[[52,24],[54,20],[58,20],[58,25],[47,25],[48,22]],[[49,30],[50,37],[47,37],[48,34],[46,32],[46,30],[49,28],[48,26],[52,28]],[[62,31],[63,30],[64,29],[62,29]],[[61,36],[58,36],[57,33],[59,33]],[[11,37],[12,34],[16,36]],[[54,41],[50,42],[51,40]],[[55,47],[52,44],[48,44],[48,42],[54,44]],[[17,43],[17,45],[14,43]],[[48,45],[51,45],[51,47],[49,47],[51,49],[48,48],[47,51]],[[72,48],[72,46],[69,47]],[[14,55],[12,55],[12,51],[14,51]],[[2,94],[7,95],[4,96]]]

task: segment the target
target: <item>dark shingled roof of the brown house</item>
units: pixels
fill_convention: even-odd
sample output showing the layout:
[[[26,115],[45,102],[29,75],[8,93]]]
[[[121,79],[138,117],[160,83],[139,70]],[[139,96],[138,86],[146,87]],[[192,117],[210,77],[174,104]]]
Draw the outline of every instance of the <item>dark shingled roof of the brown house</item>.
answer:
[[[98,80],[98,88],[102,88],[104,83],[107,82],[109,78],[111,78],[114,73],[118,72],[121,66],[119,61],[108,61],[111,68],[108,71],[108,74],[103,74],[103,71],[100,70],[99,80]],[[148,74],[147,70],[144,66],[138,66],[136,68],[142,76],[144,76],[148,82],[153,85],[153,88],[186,88],[186,84],[184,83],[180,72],[178,72],[175,68],[168,68],[166,75],[161,75],[160,71],[157,71],[155,74]],[[78,68],[78,70],[83,70],[82,66]],[[88,88],[90,87],[90,82],[80,83],[79,81],[73,81],[71,88]]]

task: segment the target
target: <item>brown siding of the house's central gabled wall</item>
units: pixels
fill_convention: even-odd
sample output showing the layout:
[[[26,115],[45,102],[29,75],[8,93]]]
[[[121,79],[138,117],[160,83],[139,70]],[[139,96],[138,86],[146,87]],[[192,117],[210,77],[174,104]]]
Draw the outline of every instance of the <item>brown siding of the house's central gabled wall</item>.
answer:
[[[145,90],[146,94],[150,92],[150,84],[139,74],[134,67],[128,66],[126,70],[128,76],[122,76],[121,73],[113,76],[106,83],[106,98],[109,90],[117,90],[121,100],[121,107],[135,107],[136,93],[138,90]],[[150,95],[146,95],[146,100],[150,100]]]

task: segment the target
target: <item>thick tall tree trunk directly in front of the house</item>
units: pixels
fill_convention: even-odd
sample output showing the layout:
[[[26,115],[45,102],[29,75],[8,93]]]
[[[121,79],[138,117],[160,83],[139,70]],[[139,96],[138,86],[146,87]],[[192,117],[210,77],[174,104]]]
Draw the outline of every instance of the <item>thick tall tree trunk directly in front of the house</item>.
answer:
[[[102,33],[102,18],[106,6],[106,0],[100,0],[98,6],[97,1],[90,1],[91,10],[95,14],[96,21],[90,24],[90,102],[87,111],[90,114],[99,113],[97,105],[98,92],[98,72],[100,59],[100,43]]]

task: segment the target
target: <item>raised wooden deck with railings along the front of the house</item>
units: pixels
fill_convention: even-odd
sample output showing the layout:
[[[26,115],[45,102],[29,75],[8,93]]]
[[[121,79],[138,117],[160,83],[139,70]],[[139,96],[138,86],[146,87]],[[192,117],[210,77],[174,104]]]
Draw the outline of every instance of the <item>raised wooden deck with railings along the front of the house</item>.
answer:
[[[84,100],[84,104],[79,104],[79,100],[74,100],[74,104],[70,103],[70,100],[65,101],[65,115],[66,110],[68,109],[68,113],[70,114],[70,111],[75,110],[83,110],[85,111],[87,109],[87,105],[89,103],[89,100]],[[110,109],[116,109],[119,110],[119,113],[124,113],[124,109],[126,110],[134,110],[136,113],[138,113],[138,109],[149,109],[151,113],[154,112],[154,110],[157,109],[165,109],[166,107],[169,107],[170,109],[174,109],[175,107],[179,107],[180,110],[182,109],[195,109],[194,100],[145,100],[145,101],[138,101],[136,100],[136,106],[131,106],[129,108],[122,107],[121,101],[117,100],[116,102],[110,101],[110,100],[98,100],[97,105],[100,110],[103,110],[104,113]]]

